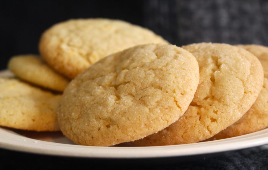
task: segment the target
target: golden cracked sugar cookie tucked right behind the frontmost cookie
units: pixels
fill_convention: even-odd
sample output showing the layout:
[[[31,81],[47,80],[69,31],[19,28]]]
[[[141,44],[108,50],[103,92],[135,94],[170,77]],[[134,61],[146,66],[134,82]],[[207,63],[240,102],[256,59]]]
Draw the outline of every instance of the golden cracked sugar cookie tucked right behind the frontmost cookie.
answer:
[[[168,128],[135,141],[137,146],[199,142],[239,120],[255,102],[263,70],[248,51],[227,44],[183,46],[199,64],[200,82],[185,114]]]

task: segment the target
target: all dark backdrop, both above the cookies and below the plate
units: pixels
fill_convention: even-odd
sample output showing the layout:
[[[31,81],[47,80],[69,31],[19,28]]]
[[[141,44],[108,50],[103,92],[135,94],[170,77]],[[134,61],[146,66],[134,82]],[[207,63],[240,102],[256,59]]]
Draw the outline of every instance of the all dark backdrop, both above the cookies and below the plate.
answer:
[[[13,55],[38,53],[44,30],[71,18],[114,18],[147,27],[177,46],[194,42],[268,46],[268,1],[0,1],[0,69]],[[147,169],[268,169],[267,147],[232,151],[192,162],[145,166]],[[176,160],[176,159],[175,159]],[[102,163],[103,162],[103,163]],[[122,161],[123,163],[124,161]],[[118,163],[118,161],[117,161]],[[0,150],[0,169],[75,169],[109,166],[105,161],[60,158]],[[134,165],[112,165],[111,169]]]

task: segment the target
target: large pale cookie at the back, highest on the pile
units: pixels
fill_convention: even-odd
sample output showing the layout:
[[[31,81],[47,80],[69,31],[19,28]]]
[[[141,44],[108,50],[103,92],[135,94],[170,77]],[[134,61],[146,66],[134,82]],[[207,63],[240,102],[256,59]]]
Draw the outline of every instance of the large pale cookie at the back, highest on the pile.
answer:
[[[120,20],[76,19],[45,31],[39,50],[47,63],[66,77],[112,53],[147,43],[167,43],[152,31]]]

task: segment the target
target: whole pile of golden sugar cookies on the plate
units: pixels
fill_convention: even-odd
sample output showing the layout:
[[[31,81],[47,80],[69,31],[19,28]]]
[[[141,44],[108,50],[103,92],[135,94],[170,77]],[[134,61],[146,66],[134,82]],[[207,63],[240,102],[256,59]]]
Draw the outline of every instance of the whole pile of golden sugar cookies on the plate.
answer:
[[[91,146],[186,144],[268,126],[267,47],[177,47],[107,19],[56,24],[39,47],[42,59],[10,60],[21,80],[0,79],[2,126],[60,129]]]

